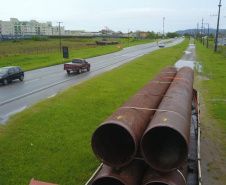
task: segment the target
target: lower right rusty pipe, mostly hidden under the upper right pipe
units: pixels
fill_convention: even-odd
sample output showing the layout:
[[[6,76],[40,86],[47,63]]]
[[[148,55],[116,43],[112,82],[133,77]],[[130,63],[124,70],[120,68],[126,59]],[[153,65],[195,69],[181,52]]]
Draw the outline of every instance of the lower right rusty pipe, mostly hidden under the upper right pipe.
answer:
[[[187,165],[184,165],[180,169],[168,173],[160,173],[148,168],[141,185],[186,185],[187,168]]]

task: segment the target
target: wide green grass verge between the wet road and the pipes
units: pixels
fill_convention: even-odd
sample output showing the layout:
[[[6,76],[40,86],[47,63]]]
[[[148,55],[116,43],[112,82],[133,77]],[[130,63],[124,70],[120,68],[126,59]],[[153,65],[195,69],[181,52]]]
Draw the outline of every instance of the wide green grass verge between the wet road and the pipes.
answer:
[[[34,177],[84,185],[99,165],[90,143],[94,130],[159,71],[174,65],[188,42],[156,50],[11,117],[0,126],[0,184],[25,185]]]

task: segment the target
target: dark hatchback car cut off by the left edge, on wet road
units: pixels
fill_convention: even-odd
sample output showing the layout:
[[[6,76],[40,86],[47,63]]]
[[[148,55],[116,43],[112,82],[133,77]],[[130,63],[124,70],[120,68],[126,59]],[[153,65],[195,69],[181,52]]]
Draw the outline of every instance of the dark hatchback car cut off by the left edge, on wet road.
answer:
[[[7,85],[12,80],[24,80],[24,71],[18,66],[0,68],[0,83]]]

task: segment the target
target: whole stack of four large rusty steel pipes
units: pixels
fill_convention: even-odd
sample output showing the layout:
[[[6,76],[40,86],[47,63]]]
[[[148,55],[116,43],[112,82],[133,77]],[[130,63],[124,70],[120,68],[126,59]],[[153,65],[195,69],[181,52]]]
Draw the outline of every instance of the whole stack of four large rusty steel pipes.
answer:
[[[191,68],[166,67],[105,120],[92,136],[104,163],[92,185],[186,184],[179,168],[188,155],[192,90]]]

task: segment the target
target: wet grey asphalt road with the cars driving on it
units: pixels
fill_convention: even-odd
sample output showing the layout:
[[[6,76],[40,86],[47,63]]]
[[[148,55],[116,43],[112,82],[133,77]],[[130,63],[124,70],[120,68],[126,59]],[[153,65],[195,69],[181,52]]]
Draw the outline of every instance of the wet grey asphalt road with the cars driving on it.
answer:
[[[175,39],[166,47],[176,45],[183,39]],[[164,41],[166,42],[166,41]],[[10,115],[32,104],[55,96],[70,86],[79,84],[103,72],[159,49],[156,43],[125,48],[119,52],[86,59],[91,64],[89,72],[67,74],[63,64],[25,72],[23,82],[15,80],[4,86],[0,84],[0,124],[5,124]]]

